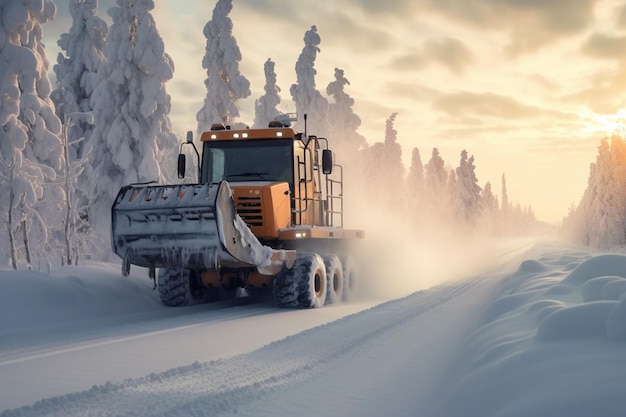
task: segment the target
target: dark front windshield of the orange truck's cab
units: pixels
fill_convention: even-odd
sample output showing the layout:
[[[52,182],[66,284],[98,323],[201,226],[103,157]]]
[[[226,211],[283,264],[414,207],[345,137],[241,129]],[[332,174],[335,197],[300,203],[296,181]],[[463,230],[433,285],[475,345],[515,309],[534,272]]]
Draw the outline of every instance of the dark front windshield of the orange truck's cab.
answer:
[[[285,181],[293,183],[293,143],[288,140],[204,142],[202,183]]]

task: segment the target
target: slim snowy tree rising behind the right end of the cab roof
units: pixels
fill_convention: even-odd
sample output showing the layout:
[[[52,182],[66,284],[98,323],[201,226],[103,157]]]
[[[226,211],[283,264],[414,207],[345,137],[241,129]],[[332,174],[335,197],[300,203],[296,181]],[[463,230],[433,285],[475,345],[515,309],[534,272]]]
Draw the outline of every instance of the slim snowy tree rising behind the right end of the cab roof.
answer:
[[[303,115],[308,116],[307,129],[312,134],[324,136],[330,133],[328,126],[328,100],[322,96],[315,85],[315,59],[320,52],[318,45],[321,38],[317,27],[312,26],[304,34],[304,48],[296,62],[296,84],[292,84],[289,92],[296,104],[296,112],[300,118],[297,126],[302,130]]]

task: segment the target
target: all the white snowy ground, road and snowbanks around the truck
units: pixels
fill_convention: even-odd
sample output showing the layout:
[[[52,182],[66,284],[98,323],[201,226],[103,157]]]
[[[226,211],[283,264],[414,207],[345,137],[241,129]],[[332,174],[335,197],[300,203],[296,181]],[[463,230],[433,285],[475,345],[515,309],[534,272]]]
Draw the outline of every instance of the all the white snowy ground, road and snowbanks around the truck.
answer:
[[[0,416],[626,415],[626,256],[465,255],[362,272],[357,300],[312,310],[166,308],[113,263],[2,270]]]

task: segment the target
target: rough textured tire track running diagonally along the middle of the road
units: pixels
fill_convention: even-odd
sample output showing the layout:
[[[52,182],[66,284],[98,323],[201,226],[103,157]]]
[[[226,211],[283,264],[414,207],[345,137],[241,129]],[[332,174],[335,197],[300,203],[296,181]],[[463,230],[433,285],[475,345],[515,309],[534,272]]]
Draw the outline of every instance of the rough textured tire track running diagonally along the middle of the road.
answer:
[[[451,302],[472,288],[493,285],[479,278],[449,283],[389,301],[305,330],[244,355],[107,382],[0,413],[14,416],[215,416],[237,413],[288,384],[348,360],[403,325]]]

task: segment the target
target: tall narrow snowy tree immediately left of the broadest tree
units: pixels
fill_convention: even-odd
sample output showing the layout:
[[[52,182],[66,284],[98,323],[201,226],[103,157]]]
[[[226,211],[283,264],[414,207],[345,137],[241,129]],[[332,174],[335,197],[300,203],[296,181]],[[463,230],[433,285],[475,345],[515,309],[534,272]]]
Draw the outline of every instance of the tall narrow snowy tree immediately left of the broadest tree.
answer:
[[[98,84],[97,71],[104,61],[108,27],[96,16],[98,0],[70,0],[72,27],[61,35],[59,53],[53,70],[57,79],[51,98],[64,123],[64,170],[67,196],[64,224],[66,259],[76,263],[79,253],[88,252],[93,241],[88,209],[93,192],[93,171],[85,144],[93,130],[91,95]]]

